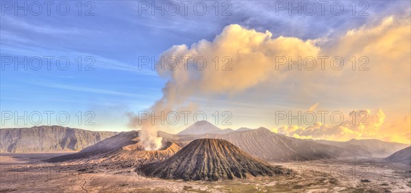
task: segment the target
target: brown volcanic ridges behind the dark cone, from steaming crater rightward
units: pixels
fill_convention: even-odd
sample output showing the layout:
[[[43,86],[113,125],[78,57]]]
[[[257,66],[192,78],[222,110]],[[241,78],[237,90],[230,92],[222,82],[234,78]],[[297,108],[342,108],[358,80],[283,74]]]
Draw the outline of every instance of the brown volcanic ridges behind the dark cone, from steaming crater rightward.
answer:
[[[82,160],[82,162],[92,163],[109,163],[114,161],[128,165],[148,164],[165,160],[193,140],[202,138],[227,140],[231,144],[238,146],[238,148],[245,153],[263,159],[265,162],[307,161],[339,157],[370,157],[375,151],[374,149],[366,149],[368,146],[364,146],[364,149],[366,149],[366,151],[364,151],[364,149],[353,149],[326,144],[324,141],[317,142],[315,140],[291,138],[279,133],[274,133],[264,127],[221,133],[223,129],[210,127],[209,123],[207,123],[206,126],[207,127],[197,124],[191,125],[187,128],[190,132],[184,132],[194,133],[189,135],[183,135],[181,133],[176,135],[158,131],[158,136],[163,138],[163,146],[158,151],[144,151],[140,144],[139,131],[128,131],[121,132],[117,136],[89,146],[79,153],[54,157],[49,159],[49,162],[76,162],[76,160]],[[195,132],[197,131],[195,127],[203,127],[199,129],[198,133],[200,134]],[[386,146],[397,145],[396,143],[385,143]],[[379,149],[377,149],[377,151],[379,151]]]

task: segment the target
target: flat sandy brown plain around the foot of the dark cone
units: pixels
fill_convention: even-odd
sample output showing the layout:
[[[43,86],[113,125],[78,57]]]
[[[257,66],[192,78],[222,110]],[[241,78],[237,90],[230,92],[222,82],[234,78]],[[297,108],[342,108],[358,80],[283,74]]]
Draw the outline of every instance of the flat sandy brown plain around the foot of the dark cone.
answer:
[[[0,192],[411,192],[410,166],[375,159],[283,162],[287,172],[275,177],[183,181],[142,176],[135,168],[41,162],[55,155],[0,154]]]

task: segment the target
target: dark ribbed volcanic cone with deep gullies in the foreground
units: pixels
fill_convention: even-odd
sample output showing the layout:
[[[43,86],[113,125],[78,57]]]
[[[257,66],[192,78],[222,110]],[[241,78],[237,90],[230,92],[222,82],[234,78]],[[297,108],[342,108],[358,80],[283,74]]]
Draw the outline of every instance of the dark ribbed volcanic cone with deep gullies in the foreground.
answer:
[[[209,181],[282,174],[279,166],[266,164],[219,139],[194,140],[169,159],[139,170],[150,177]]]

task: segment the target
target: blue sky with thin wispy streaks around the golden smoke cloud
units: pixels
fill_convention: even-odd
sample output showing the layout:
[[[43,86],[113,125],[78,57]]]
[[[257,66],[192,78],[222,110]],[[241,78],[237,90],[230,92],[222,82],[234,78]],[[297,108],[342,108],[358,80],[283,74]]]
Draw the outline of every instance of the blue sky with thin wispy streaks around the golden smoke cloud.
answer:
[[[232,8],[228,12],[232,15],[215,16],[212,10],[215,1],[205,1],[208,12],[203,16],[192,11],[186,16],[161,16],[159,12],[153,16],[149,11],[139,15],[138,1],[90,1],[95,5],[91,11],[94,16],[84,16],[84,13],[79,16],[75,5],[77,1],[68,2],[71,11],[66,16],[61,16],[55,10],[51,10],[50,15],[44,11],[38,16],[25,16],[23,12],[15,15],[13,10],[4,10],[2,7],[0,46],[1,65],[4,69],[1,70],[1,111],[16,111],[21,114],[25,111],[66,111],[72,117],[71,123],[66,125],[68,127],[112,131],[127,131],[127,112],[146,110],[162,97],[161,89],[166,79],[149,67],[139,70],[139,56],[158,57],[173,45],[190,46],[201,39],[211,41],[225,26],[231,24],[261,32],[269,30],[273,37],[288,36],[301,40],[334,38],[345,34],[349,29],[377,22],[386,16],[401,15],[410,8],[409,1],[366,1],[369,4],[366,13],[369,15],[352,16],[349,10],[351,1],[340,1],[347,9],[340,16],[334,16],[327,10],[324,16],[298,16],[295,13],[290,16],[287,11],[280,11],[277,15],[276,4],[272,1],[230,1]],[[90,8],[85,3],[86,1],[82,1],[82,12]],[[69,58],[71,65],[67,70],[60,70],[54,65],[48,70],[45,68],[46,64],[40,70],[24,70],[22,66],[14,70],[15,63],[4,66],[3,61],[5,57],[23,60],[24,57],[30,59],[45,56],[54,57],[52,62],[59,57]],[[84,65],[92,61],[85,61],[88,56],[95,60],[92,64],[94,70],[84,70]],[[82,70],[77,69],[78,57],[83,60]],[[43,63],[45,61],[42,60]],[[250,89],[252,91],[258,88]],[[258,112],[247,110],[247,106],[242,107],[247,105],[244,103],[246,99],[265,101],[264,105],[250,102],[249,105],[255,109],[298,110],[308,109],[315,103],[337,110],[377,108],[369,100],[356,103],[347,99],[348,105],[343,107],[340,105],[345,102],[343,99],[336,99],[338,103],[327,102],[332,97],[321,99],[322,101],[315,97],[301,101],[278,92],[267,92],[270,97],[245,92],[241,97],[227,98],[223,95],[210,101],[201,97],[194,100],[212,103],[220,106],[221,110],[230,109],[230,105],[227,105],[229,102],[243,108],[238,112],[238,118],[234,119],[234,128],[266,126],[258,122],[247,123],[243,119],[247,116],[261,116]],[[74,117],[79,111],[83,114],[95,112],[93,120],[96,125],[76,123]],[[8,120],[1,128],[32,126],[21,123],[16,125]]]

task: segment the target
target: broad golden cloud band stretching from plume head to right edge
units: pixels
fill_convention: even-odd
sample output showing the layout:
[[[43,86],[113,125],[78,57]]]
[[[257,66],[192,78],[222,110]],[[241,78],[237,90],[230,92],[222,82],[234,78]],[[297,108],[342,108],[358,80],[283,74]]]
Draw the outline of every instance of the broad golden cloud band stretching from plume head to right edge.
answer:
[[[369,95],[381,99],[386,98],[386,93],[380,91],[384,88],[403,92],[409,87],[410,74],[396,72],[410,71],[410,41],[410,19],[395,16],[351,29],[335,40],[273,37],[270,31],[258,32],[240,25],[228,25],[212,41],[200,40],[190,47],[175,45],[165,51],[162,54],[164,58],[179,59],[179,68],[158,70],[158,73],[171,79],[165,89],[170,89],[169,94],[178,93],[180,98],[192,94],[240,94],[247,88],[265,83],[268,90],[278,89],[282,94],[295,98],[317,93],[332,99],[358,100],[362,97],[365,100],[364,97]],[[321,69],[319,56],[328,57],[325,70]],[[353,56],[355,70],[350,62]],[[188,62],[188,69],[182,68],[182,57],[203,57],[207,66],[198,70],[193,67],[194,62]],[[277,61],[279,57],[285,57],[288,62],[299,62],[276,65],[280,63]],[[312,57],[316,58],[314,70],[297,69],[298,65],[303,65],[303,59]],[[331,67],[332,57],[343,59],[341,70]],[[218,70],[215,69],[216,58],[219,60]],[[368,64],[360,67],[367,58]],[[196,64],[201,66],[202,61],[197,60]],[[231,70],[222,70],[227,63]],[[360,68],[369,70],[361,71]],[[395,82],[395,86],[386,86],[387,81]],[[284,90],[285,84],[292,85],[292,88]],[[379,89],[372,89],[370,85]]]

